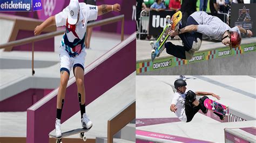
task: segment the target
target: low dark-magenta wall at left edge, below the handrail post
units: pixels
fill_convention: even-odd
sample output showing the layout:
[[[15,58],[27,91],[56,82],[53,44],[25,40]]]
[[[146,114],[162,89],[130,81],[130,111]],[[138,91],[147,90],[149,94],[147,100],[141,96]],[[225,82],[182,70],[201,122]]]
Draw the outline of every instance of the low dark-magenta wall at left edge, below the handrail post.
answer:
[[[26,111],[53,89],[28,89],[0,102],[0,112]]]

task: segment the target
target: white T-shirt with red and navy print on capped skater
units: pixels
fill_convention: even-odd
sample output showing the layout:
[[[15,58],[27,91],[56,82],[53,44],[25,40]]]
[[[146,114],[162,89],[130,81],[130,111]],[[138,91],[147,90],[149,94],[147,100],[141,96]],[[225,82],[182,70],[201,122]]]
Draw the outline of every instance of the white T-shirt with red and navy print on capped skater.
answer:
[[[79,54],[85,47],[84,38],[87,22],[90,20],[96,20],[98,17],[98,6],[85,3],[79,3],[79,6],[79,21],[76,25],[68,24],[68,6],[63,9],[62,12],[55,15],[56,26],[66,26],[66,32],[63,35],[61,44],[65,47],[65,51],[68,52],[70,56]]]

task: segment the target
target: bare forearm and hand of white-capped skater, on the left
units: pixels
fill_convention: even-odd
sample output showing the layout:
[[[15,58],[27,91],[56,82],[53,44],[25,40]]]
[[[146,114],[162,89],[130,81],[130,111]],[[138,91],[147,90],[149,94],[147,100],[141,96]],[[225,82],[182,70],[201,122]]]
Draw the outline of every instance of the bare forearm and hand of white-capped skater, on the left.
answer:
[[[49,26],[52,26],[52,25],[56,25],[56,23],[55,23],[55,16],[51,16],[51,17],[47,18],[41,25],[36,26],[34,34],[35,35],[41,34],[41,32],[45,28],[47,28]]]

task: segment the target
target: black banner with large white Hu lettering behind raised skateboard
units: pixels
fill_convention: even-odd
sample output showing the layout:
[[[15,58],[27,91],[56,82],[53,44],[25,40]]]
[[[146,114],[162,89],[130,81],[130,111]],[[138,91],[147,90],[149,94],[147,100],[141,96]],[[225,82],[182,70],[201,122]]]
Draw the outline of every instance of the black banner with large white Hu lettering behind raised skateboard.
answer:
[[[166,26],[166,16],[172,15],[175,11],[150,11],[150,22],[149,22],[149,34],[150,35],[160,35]]]

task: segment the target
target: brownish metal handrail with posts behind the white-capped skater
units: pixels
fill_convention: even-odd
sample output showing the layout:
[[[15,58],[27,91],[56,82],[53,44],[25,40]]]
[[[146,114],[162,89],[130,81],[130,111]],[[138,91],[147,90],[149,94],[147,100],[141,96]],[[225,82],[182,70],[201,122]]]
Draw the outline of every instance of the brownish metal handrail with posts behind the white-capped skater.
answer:
[[[106,24],[111,24],[115,22],[119,22],[122,20],[122,30],[121,30],[121,41],[124,40],[124,15],[116,16],[116,17],[111,17],[111,18],[106,18],[103,20],[99,20],[97,22],[89,23],[87,24],[87,27],[97,27],[97,26],[102,26]],[[56,35],[61,35],[65,32],[65,30],[59,30],[55,32],[50,32],[42,35],[37,35],[35,37],[29,37],[29,38],[24,38],[21,40],[16,40],[16,41],[11,41],[7,42],[5,44],[0,44],[0,49],[1,48],[8,48],[12,46],[18,46],[18,45],[24,45],[32,42],[32,75],[35,74],[35,70],[33,69],[33,63],[34,63],[34,42],[35,41],[41,41],[44,39],[49,39],[52,37],[55,37]]]

